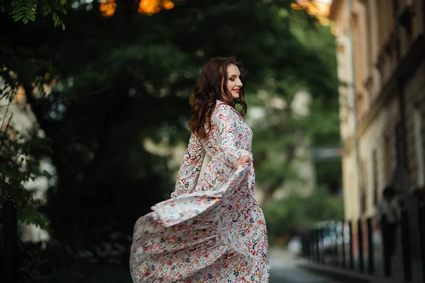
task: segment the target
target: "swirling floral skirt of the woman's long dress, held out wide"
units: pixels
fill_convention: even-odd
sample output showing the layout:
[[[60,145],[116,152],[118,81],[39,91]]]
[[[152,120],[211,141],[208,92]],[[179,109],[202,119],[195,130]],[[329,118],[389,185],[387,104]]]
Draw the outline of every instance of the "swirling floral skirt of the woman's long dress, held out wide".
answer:
[[[135,224],[133,282],[268,282],[263,212],[240,167],[217,190],[152,207]]]

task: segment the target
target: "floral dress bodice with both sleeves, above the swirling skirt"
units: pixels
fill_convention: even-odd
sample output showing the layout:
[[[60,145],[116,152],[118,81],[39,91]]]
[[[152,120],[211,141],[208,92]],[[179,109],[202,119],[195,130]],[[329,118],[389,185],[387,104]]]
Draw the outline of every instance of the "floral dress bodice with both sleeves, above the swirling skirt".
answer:
[[[171,197],[215,190],[226,183],[236,169],[237,160],[251,155],[252,130],[232,106],[217,100],[211,116],[211,128],[205,139],[191,135]],[[210,157],[205,173],[199,178],[205,154]],[[251,169],[254,173],[254,168]]]

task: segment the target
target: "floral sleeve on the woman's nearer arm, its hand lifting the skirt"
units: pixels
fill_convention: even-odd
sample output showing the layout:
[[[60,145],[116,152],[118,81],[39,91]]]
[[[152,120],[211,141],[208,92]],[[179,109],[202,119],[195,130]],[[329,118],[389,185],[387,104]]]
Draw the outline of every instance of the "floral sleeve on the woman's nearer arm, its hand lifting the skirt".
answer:
[[[217,105],[217,109],[212,117],[213,122],[218,127],[220,141],[220,148],[225,154],[225,160],[227,165],[231,168],[236,168],[237,161],[242,156],[248,155],[252,161],[251,152],[246,149],[238,149],[238,140],[242,138],[242,135],[235,135],[235,127],[237,127],[237,121],[241,119],[239,113],[237,113],[232,106],[226,104]]]

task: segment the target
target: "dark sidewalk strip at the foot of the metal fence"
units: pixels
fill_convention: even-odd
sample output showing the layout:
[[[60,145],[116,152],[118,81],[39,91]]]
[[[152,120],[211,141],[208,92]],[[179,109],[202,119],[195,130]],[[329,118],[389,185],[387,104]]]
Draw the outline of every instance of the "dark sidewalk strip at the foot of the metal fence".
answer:
[[[402,283],[403,280],[403,269],[402,262],[400,260],[394,260],[392,267],[392,277],[387,278],[382,274],[382,260],[375,260],[375,275],[368,275],[367,262],[365,261],[365,271],[359,272],[358,270],[349,270],[348,267],[343,269],[341,266],[332,266],[318,264],[303,260],[298,262],[298,266],[305,268],[310,272],[314,272],[320,275],[326,275],[338,279],[341,282],[358,282],[358,283]],[[412,262],[412,281],[410,283],[423,283],[421,262]]]

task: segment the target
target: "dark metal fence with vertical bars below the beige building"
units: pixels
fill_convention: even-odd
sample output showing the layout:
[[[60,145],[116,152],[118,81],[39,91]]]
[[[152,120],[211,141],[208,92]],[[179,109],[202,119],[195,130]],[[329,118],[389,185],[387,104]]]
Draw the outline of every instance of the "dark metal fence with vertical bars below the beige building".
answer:
[[[402,205],[399,229],[401,238],[401,267],[405,282],[412,281],[412,255],[410,243],[409,218],[407,209]],[[425,206],[419,205],[419,238],[421,250],[419,270],[421,282],[425,282]],[[334,266],[336,268],[384,275],[392,277],[392,257],[385,248],[382,228],[386,225],[385,216],[378,225],[375,219],[357,221],[335,221],[316,225],[302,231],[302,255],[311,262]],[[416,263],[416,262],[415,262]]]

